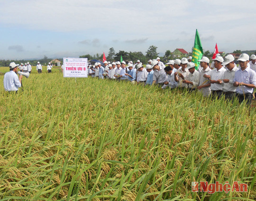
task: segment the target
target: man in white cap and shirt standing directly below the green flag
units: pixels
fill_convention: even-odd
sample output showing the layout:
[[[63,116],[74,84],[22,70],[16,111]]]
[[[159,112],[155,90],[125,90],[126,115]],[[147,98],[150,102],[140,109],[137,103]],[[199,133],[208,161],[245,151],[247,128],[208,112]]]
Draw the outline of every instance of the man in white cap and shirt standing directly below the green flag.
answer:
[[[195,70],[195,64],[192,62],[187,64],[187,70],[189,71],[189,75],[183,80],[183,83],[186,83],[189,91],[192,92],[195,91],[199,85],[200,74]]]

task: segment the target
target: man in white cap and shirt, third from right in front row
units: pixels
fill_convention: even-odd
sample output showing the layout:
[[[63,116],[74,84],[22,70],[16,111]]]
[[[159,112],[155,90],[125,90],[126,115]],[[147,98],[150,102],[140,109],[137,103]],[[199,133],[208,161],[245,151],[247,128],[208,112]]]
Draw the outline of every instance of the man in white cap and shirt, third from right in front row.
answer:
[[[211,96],[219,99],[223,92],[223,85],[221,83],[226,69],[222,65],[224,59],[221,56],[216,56],[213,61],[214,69],[210,71],[209,75],[205,74],[204,77],[210,79]]]

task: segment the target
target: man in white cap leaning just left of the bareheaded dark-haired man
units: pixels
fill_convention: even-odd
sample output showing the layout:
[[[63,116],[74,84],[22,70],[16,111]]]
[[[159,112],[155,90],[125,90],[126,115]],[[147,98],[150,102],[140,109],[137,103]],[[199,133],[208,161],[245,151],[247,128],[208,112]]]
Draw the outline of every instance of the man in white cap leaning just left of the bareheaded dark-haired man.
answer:
[[[164,68],[160,67],[158,61],[156,60],[152,61],[151,67],[154,70],[152,86],[156,84],[158,87],[163,87],[164,82],[167,80],[167,75]]]

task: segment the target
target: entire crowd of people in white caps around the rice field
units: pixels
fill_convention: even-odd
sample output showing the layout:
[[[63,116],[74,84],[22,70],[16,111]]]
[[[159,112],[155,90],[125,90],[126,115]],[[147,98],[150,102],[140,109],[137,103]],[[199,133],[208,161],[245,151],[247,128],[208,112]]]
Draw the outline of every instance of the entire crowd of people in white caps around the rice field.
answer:
[[[210,66],[210,60],[202,56],[197,70],[192,57],[169,60],[165,64],[157,57],[149,60],[145,67],[139,60],[135,64],[132,61],[128,63],[104,61],[104,66],[101,66],[100,62],[88,65],[88,75],[92,78],[128,81],[163,89],[182,88],[189,92],[198,91],[206,97],[225,96],[229,100],[237,97],[239,102],[247,101],[247,104],[250,104],[253,99],[253,90],[256,88],[256,55],[249,57],[248,54],[242,53],[238,63],[237,66],[231,54],[224,59],[217,54]],[[31,65],[29,62],[25,65],[11,62],[9,68],[10,72],[4,76],[4,88],[9,92],[17,91],[22,79],[22,76],[18,79],[18,69],[31,73]],[[48,63],[47,72],[50,73],[51,69],[52,65]],[[39,61],[37,71],[42,72]]]

